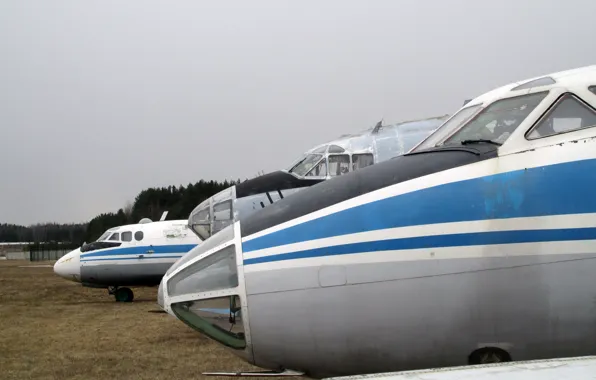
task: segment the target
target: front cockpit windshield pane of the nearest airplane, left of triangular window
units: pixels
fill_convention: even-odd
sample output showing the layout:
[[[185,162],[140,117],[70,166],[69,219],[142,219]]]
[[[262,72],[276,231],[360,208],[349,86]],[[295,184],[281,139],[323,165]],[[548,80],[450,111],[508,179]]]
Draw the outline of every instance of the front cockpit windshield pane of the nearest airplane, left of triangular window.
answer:
[[[464,140],[492,140],[502,144],[547,94],[545,91],[497,100],[443,144],[461,144]]]

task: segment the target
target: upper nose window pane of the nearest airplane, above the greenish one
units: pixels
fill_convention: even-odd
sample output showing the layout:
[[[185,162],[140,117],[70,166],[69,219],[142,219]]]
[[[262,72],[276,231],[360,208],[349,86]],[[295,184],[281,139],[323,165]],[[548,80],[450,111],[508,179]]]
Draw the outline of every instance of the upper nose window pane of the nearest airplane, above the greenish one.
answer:
[[[182,269],[168,280],[172,297],[238,286],[236,248],[229,245]]]

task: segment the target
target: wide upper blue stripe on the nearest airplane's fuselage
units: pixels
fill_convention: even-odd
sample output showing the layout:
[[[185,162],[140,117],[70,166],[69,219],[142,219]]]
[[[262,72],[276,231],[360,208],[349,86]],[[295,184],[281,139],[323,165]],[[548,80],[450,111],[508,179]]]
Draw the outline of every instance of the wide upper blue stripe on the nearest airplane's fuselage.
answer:
[[[594,173],[591,159],[439,185],[272,232],[242,249],[415,225],[596,212]]]

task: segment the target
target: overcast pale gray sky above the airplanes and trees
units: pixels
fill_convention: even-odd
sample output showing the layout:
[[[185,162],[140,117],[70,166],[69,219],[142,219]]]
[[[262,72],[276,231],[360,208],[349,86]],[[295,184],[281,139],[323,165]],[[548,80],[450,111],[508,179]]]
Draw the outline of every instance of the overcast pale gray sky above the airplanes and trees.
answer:
[[[593,64],[592,0],[0,1],[0,222],[252,178]]]

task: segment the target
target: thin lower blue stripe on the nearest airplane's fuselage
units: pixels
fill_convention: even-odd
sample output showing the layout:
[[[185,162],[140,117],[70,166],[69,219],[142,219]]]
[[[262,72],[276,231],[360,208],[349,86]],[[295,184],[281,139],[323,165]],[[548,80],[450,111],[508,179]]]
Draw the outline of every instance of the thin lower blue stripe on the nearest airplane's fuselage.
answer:
[[[553,241],[596,240],[596,228],[569,228],[560,230],[492,231],[467,234],[417,236],[391,240],[336,245],[263,256],[244,260],[244,265],[272,261],[306,259],[311,257],[346,255],[363,252],[394,251],[418,248],[465,247],[486,244],[538,243]],[[596,247],[594,248],[596,252]]]

